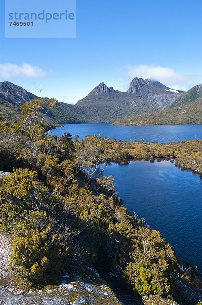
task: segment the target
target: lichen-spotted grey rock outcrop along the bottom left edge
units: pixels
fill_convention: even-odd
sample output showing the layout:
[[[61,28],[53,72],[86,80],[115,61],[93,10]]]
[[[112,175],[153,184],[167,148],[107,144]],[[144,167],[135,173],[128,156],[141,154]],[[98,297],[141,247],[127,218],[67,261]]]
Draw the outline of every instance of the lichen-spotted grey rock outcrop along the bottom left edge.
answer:
[[[14,288],[0,287],[0,304],[4,305],[120,305],[106,282],[93,268],[87,268],[79,276],[64,275],[61,284],[46,286],[26,293]]]

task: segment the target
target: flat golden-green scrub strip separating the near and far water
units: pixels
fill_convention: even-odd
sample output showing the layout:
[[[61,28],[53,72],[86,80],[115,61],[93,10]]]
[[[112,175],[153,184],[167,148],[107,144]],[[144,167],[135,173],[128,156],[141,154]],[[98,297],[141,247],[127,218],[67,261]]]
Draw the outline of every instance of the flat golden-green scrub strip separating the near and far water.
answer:
[[[110,163],[123,160],[153,160],[157,158],[175,160],[176,166],[202,173],[202,140],[185,140],[159,144],[144,141],[126,142],[116,141],[97,136],[89,136],[86,139],[75,143],[77,155],[81,160],[84,156],[92,153],[92,147],[99,150],[99,156],[95,160]],[[96,162],[94,162],[94,165]]]

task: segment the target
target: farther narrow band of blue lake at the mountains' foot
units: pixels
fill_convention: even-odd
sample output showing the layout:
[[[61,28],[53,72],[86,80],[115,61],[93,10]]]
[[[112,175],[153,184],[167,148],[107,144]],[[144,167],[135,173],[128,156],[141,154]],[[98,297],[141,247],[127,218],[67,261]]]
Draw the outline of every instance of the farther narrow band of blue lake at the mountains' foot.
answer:
[[[152,125],[152,126],[113,126],[109,123],[65,124],[52,130],[52,134],[61,136],[64,132],[83,139],[86,135],[101,135],[116,140],[159,143],[181,141],[188,139],[202,139],[202,125]]]

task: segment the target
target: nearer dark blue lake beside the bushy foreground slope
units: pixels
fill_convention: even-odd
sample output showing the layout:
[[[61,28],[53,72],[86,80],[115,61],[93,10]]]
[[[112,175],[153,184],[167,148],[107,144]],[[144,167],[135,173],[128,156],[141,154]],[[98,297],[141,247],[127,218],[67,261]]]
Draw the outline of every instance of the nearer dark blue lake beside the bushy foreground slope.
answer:
[[[115,176],[119,196],[129,211],[159,230],[179,257],[202,271],[202,180],[170,161],[112,164],[103,174]]]

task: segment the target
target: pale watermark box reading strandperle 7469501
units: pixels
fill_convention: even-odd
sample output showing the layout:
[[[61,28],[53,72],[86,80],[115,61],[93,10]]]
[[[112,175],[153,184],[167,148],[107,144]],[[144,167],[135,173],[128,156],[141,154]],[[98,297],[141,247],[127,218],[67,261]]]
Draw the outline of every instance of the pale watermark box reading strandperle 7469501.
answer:
[[[76,0],[5,0],[5,37],[75,38]]]

